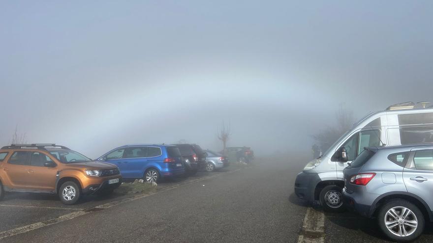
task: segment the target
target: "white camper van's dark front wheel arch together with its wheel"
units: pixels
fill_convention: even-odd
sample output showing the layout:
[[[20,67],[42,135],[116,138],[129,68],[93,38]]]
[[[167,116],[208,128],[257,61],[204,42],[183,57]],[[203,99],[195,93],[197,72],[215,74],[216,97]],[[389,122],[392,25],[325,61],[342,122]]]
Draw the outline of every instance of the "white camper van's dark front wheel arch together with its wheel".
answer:
[[[343,181],[323,181],[317,184],[314,190],[314,199],[320,202],[326,212],[343,212],[342,204]]]

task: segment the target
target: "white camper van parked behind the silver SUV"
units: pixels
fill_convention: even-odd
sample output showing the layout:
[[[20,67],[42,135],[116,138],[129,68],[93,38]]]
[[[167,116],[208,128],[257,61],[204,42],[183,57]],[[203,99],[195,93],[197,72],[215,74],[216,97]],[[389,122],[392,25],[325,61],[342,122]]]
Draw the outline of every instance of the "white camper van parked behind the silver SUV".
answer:
[[[295,193],[324,210],[343,210],[343,169],[371,146],[433,142],[433,105],[406,102],[373,112],[353,125],[323,155],[298,174]]]

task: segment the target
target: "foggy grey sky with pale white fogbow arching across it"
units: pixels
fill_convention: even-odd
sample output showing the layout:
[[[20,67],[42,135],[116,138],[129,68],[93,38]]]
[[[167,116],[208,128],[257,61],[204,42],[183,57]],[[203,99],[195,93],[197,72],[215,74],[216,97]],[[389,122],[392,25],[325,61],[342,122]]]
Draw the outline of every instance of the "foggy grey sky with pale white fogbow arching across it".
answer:
[[[180,139],[311,147],[355,118],[433,100],[433,1],[1,1],[0,144],[95,158]]]

